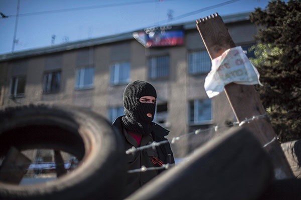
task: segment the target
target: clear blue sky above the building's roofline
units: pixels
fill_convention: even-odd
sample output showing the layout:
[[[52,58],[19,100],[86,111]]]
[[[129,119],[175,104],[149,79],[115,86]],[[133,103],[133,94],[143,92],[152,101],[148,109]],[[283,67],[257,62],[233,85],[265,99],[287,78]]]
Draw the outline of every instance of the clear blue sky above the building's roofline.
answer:
[[[7,16],[0,16],[0,54],[51,46],[53,35],[56,45],[196,21],[216,12],[223,17],[254,11],[255,7],[265,8],[267,3],[268,0],[0,0],[0,12]]]

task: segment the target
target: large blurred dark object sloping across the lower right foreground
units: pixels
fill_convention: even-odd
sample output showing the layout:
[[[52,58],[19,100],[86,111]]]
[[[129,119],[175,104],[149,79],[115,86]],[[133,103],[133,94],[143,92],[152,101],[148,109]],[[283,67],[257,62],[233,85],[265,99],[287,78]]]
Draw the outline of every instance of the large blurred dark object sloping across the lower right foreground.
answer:
[[[257,199],[273,178],[267,153],[245,127],[197,148],[126,199]]]

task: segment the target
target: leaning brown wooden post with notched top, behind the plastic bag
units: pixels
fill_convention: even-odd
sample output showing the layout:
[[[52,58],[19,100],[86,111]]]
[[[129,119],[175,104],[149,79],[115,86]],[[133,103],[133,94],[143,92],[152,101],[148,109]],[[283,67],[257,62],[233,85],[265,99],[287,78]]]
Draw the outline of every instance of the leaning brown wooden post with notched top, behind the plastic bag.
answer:
[[[226,25],[217,13],[197,20],[197,28],[211,59],[235,47]],[[266,113],[253,85],[230,83],[225,85],[225,93],[238,122]],[[243,125],[256,135],[262,145],[268,144],[264,148],[271,157],[275,178],[294,177],[268,118],[258,118]]]

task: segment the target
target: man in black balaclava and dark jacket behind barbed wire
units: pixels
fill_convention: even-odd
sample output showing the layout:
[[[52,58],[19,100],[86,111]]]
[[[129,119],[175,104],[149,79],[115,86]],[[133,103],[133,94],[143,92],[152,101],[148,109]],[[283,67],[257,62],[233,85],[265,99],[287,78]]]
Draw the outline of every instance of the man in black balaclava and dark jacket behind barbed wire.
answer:
[[[112,126],[124,136],[126,149],[152,143],[166,142],[156,148],[146,148],[127,154],[127,169],[160,167],[175,163],[170,143],[165,138],[169,130],[152,122],[156,111],[157,92],[152,84],[142,80],[130,82],[123,92],[125,115],[115,119]],[[125,196],[158,175],[162,170],[128,173]]]

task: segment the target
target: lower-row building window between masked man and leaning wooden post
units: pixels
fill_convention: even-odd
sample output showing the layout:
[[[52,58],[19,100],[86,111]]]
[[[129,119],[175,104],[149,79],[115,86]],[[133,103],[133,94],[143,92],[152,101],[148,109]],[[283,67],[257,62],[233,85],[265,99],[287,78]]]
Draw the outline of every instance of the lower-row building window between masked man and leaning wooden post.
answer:
[[[211,99],[198,99],[189,101],[189,123],[207,124],[212,122]]]

